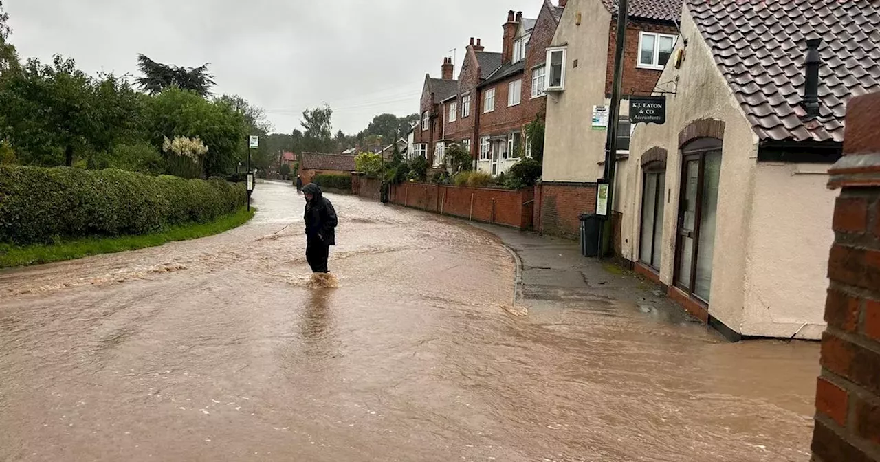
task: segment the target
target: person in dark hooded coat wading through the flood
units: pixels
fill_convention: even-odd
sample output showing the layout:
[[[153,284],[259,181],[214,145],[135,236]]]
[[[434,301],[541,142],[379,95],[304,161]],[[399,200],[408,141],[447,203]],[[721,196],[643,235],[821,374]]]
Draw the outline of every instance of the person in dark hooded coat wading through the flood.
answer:
[[[313,273],[328,273],[330,246],[336,245],[336,210],[314,183],[303,187],[305,194],[305,260]]]

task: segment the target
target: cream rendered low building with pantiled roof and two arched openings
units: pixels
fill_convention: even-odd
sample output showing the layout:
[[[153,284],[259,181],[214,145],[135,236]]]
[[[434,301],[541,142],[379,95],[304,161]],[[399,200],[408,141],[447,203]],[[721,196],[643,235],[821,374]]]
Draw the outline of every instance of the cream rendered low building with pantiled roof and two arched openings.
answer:
[[[619,163],[618,251],[731,340],[825,328],[827,172],[847,101],[880,91],[878,18],[868,2],[685,1],[666,121],[640,124]]]

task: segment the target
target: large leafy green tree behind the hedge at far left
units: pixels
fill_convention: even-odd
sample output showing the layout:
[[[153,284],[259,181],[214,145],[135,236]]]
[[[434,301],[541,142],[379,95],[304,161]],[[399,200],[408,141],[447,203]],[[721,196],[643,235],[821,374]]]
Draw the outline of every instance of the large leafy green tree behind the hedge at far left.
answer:
[[[20,162],[95,166],[115,143],[135,136],[141,99],[124,78],[90,77],[76,63],[55,55],[36,59],[4,78],[0,89],[0,138]]]

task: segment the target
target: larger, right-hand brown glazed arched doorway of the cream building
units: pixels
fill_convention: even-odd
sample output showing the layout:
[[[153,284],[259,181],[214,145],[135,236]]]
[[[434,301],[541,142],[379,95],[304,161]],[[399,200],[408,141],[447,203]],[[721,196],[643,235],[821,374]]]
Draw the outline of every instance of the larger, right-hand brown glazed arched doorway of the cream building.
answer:
[[[696,138],[681,147],[675,285],[707,304],[715,253],[721,153],[722,141],[717,138]]]

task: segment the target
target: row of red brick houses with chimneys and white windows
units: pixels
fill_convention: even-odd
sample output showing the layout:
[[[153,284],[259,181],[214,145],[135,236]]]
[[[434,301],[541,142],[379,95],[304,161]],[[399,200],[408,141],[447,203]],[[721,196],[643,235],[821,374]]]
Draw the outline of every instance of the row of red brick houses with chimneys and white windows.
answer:
[[[544,48],[561,11],[562,6],[550,0],[542,1],[537,19],[509,11],[500,53],[486,51],[481,40],[472,37],[457,80],[449,58],[444,59],[442,78],[426,76],[413,152],[438,167],[446,147],[457,143],[482,171],[497,174],[515,164],[526,151],[524,125],[544,117]]]

